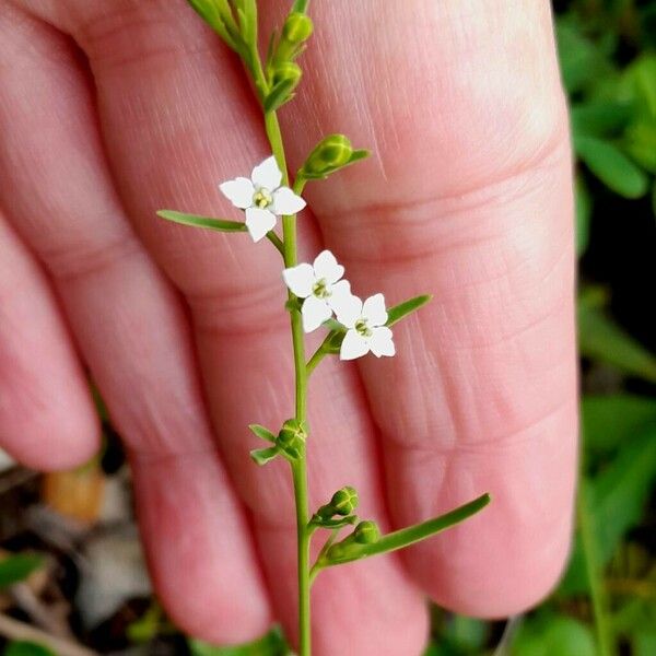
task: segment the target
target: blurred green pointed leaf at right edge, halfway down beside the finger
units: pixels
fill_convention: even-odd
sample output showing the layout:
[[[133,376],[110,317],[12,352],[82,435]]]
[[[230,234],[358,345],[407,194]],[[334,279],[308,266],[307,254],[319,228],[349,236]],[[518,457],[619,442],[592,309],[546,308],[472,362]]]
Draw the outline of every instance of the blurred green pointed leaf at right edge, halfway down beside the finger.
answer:
[[[582,355],[656,382],[656,356],[604,312],[584,300],[578,303],[578,348]]]

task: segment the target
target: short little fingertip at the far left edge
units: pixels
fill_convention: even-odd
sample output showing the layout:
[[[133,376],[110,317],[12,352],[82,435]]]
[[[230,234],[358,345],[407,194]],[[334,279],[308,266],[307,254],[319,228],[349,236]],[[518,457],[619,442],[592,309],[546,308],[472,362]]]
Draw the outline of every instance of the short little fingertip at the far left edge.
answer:
[[[48,281],[0,215],[0,444],[34,469],[67,469],[89,460],[98,438]]]

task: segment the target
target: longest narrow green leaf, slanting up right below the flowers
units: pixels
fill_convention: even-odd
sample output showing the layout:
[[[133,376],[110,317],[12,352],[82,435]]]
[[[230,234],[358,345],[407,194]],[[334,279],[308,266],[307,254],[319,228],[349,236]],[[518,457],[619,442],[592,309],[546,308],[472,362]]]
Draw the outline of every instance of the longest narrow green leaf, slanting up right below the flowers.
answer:
[[[343,553],[340,553],[337,558],[326,559],[320,565],[321,567],[341,565],[363,558],[378,555],[379,553],[389,553],[390,551],[405,549],[410,544],[425,540],[456,524],[465,522],[465,519],[482,511],[489,503],[490,495],[483,494],[450,513],[387,534],[371,544],[352,543]]]

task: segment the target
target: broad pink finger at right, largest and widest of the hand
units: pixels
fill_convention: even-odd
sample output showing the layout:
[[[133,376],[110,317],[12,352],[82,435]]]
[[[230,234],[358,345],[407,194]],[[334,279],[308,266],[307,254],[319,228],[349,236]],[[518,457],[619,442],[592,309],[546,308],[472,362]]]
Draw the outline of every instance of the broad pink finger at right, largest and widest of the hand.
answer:
[[[283,112],[292,162],[336,128],[374,149],[307,190],[326,243],[362,295],[434,294],[395,330],[396,358],[361,362],[394,519],[494,499],[407,562],[449,608],[517,612],[563,565],[576,450],[571,165],[548,4],[313,13],[305,86]]]

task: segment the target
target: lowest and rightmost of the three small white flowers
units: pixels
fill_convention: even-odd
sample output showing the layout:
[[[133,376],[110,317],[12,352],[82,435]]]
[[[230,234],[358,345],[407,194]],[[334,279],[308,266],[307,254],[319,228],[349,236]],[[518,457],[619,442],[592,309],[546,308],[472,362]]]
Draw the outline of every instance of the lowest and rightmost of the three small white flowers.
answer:
[[[353,295],[340,297],[335,314],[348,328],[339,353],[341,360],[355,360],[370,351],[376,358],[396,353],[391,330],[385,326],[387,311],[383,294],[370,296],[364,303]]]

